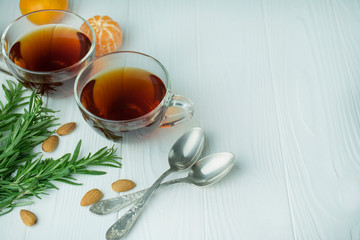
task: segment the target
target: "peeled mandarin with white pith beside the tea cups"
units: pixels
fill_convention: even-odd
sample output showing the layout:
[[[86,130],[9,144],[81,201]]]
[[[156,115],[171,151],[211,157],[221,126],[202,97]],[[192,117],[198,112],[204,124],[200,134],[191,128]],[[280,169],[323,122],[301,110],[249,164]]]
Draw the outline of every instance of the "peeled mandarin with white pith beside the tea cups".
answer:
[[[96,15],[87,20],[95,32],[96,50],[95,56],[117,51],[122,43],[122,31],[120,25],[112,20],[109,16]],[[90,29],[81,26],[81,31],[92,40]]]

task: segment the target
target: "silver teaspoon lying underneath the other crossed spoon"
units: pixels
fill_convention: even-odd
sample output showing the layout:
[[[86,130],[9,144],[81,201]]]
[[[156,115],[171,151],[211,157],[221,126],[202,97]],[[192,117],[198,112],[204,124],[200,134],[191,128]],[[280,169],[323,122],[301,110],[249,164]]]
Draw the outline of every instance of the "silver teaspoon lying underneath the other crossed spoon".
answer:
[[[234,166],[234,154],[229,152],[215,153],[198,160],[189,174],[184,178],[174,179],[160,185],[160,188],[174,183],[192,183],[197,186],[207,186],[222,179]],[[94,203],[90,211],[105,215],[120,210],[141,198],[147,189],[122,195],[115,198],[105,199]]]

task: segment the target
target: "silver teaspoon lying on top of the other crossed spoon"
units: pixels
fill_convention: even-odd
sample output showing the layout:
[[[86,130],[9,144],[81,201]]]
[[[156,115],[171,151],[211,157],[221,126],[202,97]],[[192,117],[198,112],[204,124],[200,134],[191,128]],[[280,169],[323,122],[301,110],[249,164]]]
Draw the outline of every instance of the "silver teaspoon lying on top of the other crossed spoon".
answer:
[[[144,210],[146,201],[159,187],[160,183],[172,172],[186,170],[200,157],[204,147],[204,132],[196,127],[182,135],[169,152],[170,168],[165,171],[155,183],[144,193],[135,205],[117,220],[106,232],[106,239],[120,239],[132,228]]]

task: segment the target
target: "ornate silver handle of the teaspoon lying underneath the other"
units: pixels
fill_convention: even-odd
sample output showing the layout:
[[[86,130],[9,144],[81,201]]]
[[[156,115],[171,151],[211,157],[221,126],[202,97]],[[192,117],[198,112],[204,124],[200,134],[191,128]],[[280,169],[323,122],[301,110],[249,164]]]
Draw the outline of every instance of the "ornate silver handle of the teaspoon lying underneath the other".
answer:
[[[168,182],[164,182],[164,183],[160,184],[159,189],[164,188],[164,187],[169,186],[174,183],[179,183],[179,182],[187,182],[187,178],[186,177],[178,178],[178,179],[174,179],[174,180],[171,180]],[[126,195],[121,195],[121,196],[118,196],[115,198],[101,200],[101,201],[91,205],[90,212],[98,214],[98,215],[105,215],[108,213],[118,211],[118,210],[136,202],[139,198],[141,198],[144,195],[144,193],[147,190],[148,190],[148,188],[137,191],[137,192],[129,193]]]

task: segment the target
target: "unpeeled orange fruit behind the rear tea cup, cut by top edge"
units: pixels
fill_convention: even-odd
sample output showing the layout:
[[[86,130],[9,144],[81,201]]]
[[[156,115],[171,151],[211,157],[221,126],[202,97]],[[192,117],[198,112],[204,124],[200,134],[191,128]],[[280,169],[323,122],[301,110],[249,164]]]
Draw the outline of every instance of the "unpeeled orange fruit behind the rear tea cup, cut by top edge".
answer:
[[[58,9],[67,11],[69,7],[68,0],[20,0],[19,3],[21,13],[27,14],[30,12],[45,10],[45,9]],[[56,23],[62,18],[62,13],[38,13],[36,15],[28,16],[28,19],[37,24]]]

